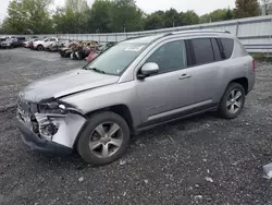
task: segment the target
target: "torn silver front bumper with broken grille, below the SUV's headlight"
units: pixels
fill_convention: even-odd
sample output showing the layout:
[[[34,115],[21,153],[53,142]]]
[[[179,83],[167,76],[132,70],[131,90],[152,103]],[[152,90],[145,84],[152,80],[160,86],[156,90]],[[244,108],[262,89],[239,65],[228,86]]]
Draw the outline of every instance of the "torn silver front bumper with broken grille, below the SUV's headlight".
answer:
[[[85,123],[77,113],[38,113],[32,112],[33,106],[17,109],[17,128],[22,140],[32,150],[53,154],[70,154],[76,136]],[[27,111],[25,111],[27,110]]]

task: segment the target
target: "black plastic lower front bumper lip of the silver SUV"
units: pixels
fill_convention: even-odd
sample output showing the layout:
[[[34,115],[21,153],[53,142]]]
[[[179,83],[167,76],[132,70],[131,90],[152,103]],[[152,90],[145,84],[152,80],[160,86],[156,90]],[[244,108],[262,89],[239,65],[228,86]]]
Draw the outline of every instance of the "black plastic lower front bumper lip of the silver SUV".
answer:
[[[73,152],[73,149],[70,147],[63,146],[54,142],[41,140],[20,120],[17,120],[17,128],[22,133],[23,143],[27,145],[32,150],[61,155],[69,155]]]

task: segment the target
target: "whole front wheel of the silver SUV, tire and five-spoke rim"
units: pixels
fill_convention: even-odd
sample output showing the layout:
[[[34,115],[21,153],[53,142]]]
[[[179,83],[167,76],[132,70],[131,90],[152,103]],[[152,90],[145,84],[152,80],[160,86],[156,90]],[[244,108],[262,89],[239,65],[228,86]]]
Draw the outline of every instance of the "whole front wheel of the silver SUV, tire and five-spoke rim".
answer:
[[[109,134],[111,131],[113,134]],[[102,166],[121,158],[128,144],[129,128],[126,121],[114,112],[98,112],[86,122],[77,141],[77,152],[86,162]]]

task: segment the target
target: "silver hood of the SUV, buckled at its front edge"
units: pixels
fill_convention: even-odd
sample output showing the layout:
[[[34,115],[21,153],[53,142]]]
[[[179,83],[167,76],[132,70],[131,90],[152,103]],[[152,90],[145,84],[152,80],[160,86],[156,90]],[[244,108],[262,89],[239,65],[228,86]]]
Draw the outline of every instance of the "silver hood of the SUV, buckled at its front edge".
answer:
[[[77,92],[118,83],[119,76],[100,74],[90,70],[71,70],[27,85],[20,98],[38,102],[42,99],[59,98]]]

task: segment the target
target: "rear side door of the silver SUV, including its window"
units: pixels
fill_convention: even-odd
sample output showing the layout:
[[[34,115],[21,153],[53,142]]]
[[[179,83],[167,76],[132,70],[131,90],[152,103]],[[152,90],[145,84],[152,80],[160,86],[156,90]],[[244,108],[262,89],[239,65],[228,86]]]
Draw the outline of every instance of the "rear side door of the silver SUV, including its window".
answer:
[[[214,38],[193,38],[189,41],[191,67],[183,70],[182,76],[190,77],[188,82],[189,109],[210,108],[214,104],[217,84],[221,60],[219,47]],[[184,99],[180,98],[180,106],[184,106]],[[197,109],[196,109],[197,110]]]

